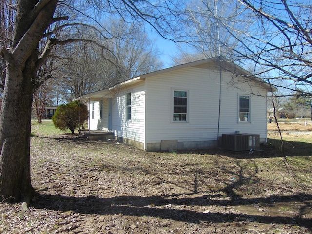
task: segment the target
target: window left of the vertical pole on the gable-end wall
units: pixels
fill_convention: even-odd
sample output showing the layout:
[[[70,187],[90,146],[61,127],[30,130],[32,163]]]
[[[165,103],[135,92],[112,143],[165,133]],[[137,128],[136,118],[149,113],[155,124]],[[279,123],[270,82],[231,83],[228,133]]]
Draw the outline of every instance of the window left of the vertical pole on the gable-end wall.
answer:
[[[173,121],[187,122],[187,91],[173,91]]]

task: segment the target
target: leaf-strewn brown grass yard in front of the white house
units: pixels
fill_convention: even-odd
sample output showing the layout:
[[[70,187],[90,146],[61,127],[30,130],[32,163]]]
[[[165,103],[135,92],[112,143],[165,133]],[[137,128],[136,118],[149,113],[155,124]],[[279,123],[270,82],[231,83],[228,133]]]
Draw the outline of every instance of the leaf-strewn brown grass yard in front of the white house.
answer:
[[[0,203],[0,233],[312,233],[312,137],[286,126],[289,165],[274,131],[260,153],[147,153],[33,125],[39,195]]]

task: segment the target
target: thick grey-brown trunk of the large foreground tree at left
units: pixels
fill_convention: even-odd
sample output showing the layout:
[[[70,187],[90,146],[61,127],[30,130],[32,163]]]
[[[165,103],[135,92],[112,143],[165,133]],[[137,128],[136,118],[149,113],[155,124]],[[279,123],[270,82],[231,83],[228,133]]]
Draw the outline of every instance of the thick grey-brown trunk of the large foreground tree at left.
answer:
[[[58,0],[18,0],[11,48],[3,48],[6,78],[0,116],[0,202],[29,202],[33,93],[42,64],[38,45],[53,22]]]

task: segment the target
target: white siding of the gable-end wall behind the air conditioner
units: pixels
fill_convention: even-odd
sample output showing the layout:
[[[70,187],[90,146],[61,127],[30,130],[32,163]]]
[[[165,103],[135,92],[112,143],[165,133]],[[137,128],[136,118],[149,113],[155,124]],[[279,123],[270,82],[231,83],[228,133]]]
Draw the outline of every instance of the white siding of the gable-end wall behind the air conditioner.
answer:
[[[218,70],[188,67],[146,78],[146,143],[217,140],[219,77]],[[230,85],[231,80],[231,73],[222,72],[219,136],[240,131],[260,134],[265,139],[265,98],[252,96],[254,106],[250,112],[254,121],[249,125],[239,125],[237,95],[243,92]],[[246,82],[239,85],[250,90]],[[171,87],[189,90],[188,124],[171,124]],[[260,86],[254,86],[253,92],[266,96],[266,91]]]

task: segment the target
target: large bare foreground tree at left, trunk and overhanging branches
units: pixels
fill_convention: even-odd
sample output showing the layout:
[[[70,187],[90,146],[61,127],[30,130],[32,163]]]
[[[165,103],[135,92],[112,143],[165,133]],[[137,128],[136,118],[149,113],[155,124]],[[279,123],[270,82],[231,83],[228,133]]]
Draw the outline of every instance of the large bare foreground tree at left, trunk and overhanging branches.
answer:
[[[90,3],[91,8],[86,8]],[[12,1],[16,9],[14,30],[10,46],[1,46],[1,57],[6,63],[3,102],[0,116],[0,194],[6,201],[30,201],[34,189],[30,178],[30,133],[31,109],[34,92],[46,80],[38,74],[39,68],[47,61],[56,46],[84,41],[98,44],[105,49],[103,40],[93,33],[81,35],[82,28],[100,33],[103,38],[111,35],[96,17],[97,9],[103,14],[119,14],[138,24],[149,24],[164,38],[175,38],[179,29],[171,27],[172,13],[179,11],[180,1],[146,0],[19,0]],[[56,8],[59,8],[56,11]],[[97,7],[97,8],[96,8]],[[69,13],[76,18],[68,20]],[[90,13],[90,14],[89,14]],[[79,19],[80,18],[80,19]],[[90,26],[94,21],[96,26]],[[83,22],[83,23],[81,23]],[[88,25],[86,24],[88,23]],[[177,25],[180,26],[180,25]],[[113,36],[111,36],[113,37]],[[40,42],[45,41],[42,50]]]

